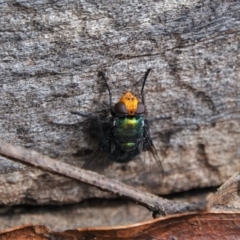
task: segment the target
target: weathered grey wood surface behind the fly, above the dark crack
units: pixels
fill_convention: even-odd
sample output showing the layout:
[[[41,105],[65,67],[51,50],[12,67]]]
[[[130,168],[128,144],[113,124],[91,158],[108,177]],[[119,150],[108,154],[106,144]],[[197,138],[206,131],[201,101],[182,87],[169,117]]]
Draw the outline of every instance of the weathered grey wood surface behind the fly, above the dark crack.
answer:
[[[96,142],[86,119],[139,93],[170,193],[216,186],[240,167],[238,1],[4,1],[0,4],[1,138],[81,166]],[[0,203],[70,203],[103,196],[1,157]],[[124,173],[123,173],[124,175]]]

